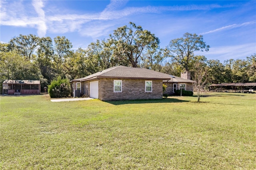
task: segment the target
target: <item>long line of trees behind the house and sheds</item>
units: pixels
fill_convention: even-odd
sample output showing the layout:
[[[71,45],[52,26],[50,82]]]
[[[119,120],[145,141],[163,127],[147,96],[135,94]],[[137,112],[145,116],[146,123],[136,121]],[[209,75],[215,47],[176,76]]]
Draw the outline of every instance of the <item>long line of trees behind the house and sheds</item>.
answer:
[[[58,76],[69,80],[88,76],[112,66],[142,67],[175,76],[189,70],[195,79],[198,68],[207,72],[207,83],[256,82],[256,54],[246,60],[207,60],[194,51],[208,51],[202,35],[185,33],[166,48],[148,30],[130,22],[118,27],[108,39],[90,43],[86,49],[72,50],[66,37],[19,35],[0,43],[0,83],[5,79],[41,80],[48,86]],[[244,57],[244,56],[242,56]],[[1,88],[2,89],[2,88]],[[1,90],[2,92],[2,90]]]

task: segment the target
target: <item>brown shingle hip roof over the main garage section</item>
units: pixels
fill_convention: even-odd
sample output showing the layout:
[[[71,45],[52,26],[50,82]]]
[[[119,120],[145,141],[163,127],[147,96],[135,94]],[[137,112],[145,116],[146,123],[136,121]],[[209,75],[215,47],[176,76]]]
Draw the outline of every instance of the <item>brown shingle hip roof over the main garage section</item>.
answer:
[[[84,78],[71,81],[86,81],[96,78],[124,78],[124,79],[150,79],[150,80],[169,80],[170,75],[146,68],[134,68],[127,66],[114,66],[100,72],[96,72]]]

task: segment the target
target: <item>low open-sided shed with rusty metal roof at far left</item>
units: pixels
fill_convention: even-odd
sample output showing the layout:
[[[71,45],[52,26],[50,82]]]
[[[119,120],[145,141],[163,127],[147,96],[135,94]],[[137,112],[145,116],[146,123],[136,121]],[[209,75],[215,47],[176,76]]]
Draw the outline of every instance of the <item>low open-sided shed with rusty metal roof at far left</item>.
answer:
[[[40,80],[4,80],[3,94],[40,94]]]

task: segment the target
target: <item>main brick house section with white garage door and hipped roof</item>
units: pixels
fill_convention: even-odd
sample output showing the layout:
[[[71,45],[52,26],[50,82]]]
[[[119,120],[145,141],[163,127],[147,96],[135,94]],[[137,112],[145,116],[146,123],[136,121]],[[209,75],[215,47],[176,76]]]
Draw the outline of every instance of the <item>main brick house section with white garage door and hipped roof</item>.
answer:
[[[73,90],[100,100],[162,99],[163,80],[170,75],[145,68],[114,66],[71,80]]]

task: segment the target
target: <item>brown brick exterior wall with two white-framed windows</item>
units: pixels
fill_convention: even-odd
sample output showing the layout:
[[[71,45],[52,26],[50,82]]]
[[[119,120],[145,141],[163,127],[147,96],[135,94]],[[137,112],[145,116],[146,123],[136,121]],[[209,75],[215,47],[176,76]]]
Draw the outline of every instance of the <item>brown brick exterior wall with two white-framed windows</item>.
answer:
[[[114,80],[122,80],[122,92],[114,92]],[[90,83],[86,81],[90,94]],[[140,99],[162,99],[162,80],[152,80],[152,92],[145,92],[145,80],[138,79],[108,79],[99,80],[100,100],[140,100]]]

